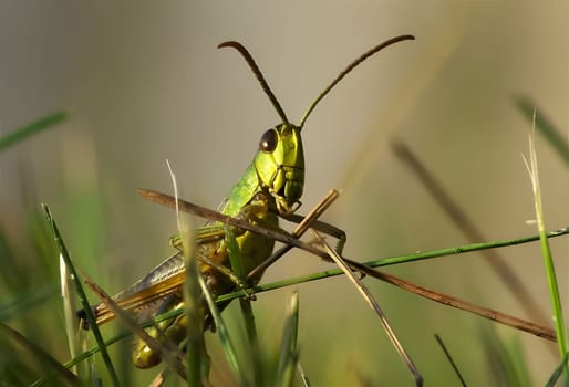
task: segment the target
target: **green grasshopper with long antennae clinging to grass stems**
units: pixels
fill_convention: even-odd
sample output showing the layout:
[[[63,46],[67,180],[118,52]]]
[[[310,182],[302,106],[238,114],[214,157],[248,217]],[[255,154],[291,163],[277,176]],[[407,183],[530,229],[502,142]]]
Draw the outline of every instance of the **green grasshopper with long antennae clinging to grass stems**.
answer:
[[[412,35],[390,39],[353,61],[310,104],[299,125],[293,125],[288,121],[249,52],[238,42],[219,44],[218,48],[232,48],[244,56],[282,119],[282,124],[261,135],[252,163],[231,189],[229,197],[219,206],[218,211],[269,230],[280,230],[279,218],[294,222],[301,220],[302,217],[296,215],[294,211],[300,207],[300,198],[304,188],[304,153],[300,133],[308,117],[318,103],[360,63],[389,45],[413,39]],[[344,242],[341,231],[329,224],[324,227],[325,223],[320,222],[319,224],[327,232],[334,233],[334,237],[340,238],[338,250],[341,250]],[[318,226],[314,227],[318,228]],[[242,279],[236,278],[231,271],[225,230],[225,226],[220,222],[209,222],[196,230],[197,249],[195,254],[199,262],[199,271],[214,296],[230,292],[236,286],[246,287]],[[255,285],[265,270],[265,266],[261,266],[261,270],[256,270],[256,268],[270,259],[275,240],[238,228],[234,228],[232,233],[239,248],[241,271],[246,275],[252,274],[249,275],[247,285]],[[180,291],[185,275],[184,252],[179,238],[174,238],[170,243],[178,249],[178,252],[113,297],[121,307],[138,312],[146,310],[147,316],[184,307]],[[146,307],[148,304],[154,305],[154,308]],[[220,305],[220,308],[224,306]],[[203,307],[207,310],[205,303]],[[81,312],[79,313],[80,317],[84,318],[84,311]],[[94,306],[93,314],[97,325],[114,317],[114,314],[104,304]],[[206,327],[208,324],[211,323],[206,322]],[[186,314],[162,321],[153,327],[146,328],[152,337],[161,342],[170,339],[176,344],[185,338],[186,330]],[[137,342],[133,352],[135,366],[149,368],[161,360],[159,354],[151,349],[143,341]]]

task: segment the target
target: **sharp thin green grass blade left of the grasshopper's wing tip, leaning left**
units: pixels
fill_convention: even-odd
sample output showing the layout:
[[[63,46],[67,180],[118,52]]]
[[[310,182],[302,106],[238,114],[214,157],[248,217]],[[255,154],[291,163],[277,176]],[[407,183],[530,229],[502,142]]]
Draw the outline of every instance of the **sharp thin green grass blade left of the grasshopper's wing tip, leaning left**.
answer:
[[[75,268],[73,266],[73,262],[68,252],[68,248],[63,243],[63,239],[61,238],[58,226],[55,224],[55,220],[51,216],[49,207],[46,205],[42,205],[42,207],[43,207],[43,210],[45,211],[45,217],[48,218],[48,221],[51,226],[52,233],[55,239],[55,243],[58,244],[58,248],[60,249],[61,258],[65,261],[65,264],[68,265],[69,271],[73,278],[73,284],[75,286],[75,291],[77,293],[79,300],[81,301],[83,310],[85,311],[85,314],[87,316],[87,321],[90,324],[92,324],[91,326],[92,326],[92,331],[93,331],[93,336],[95,337],[95,341],[99,345],[99,348],[101,351],[101,356],[103,357],[105,367],[108,372],[108,375],[111,376],[113,386],[120,386],[121,384],[118,383],[118,376],[116,375],[113,363],[111,362],[111,356],[108,356],[108,353],[104,345],[103,336],[101,335],[101,332],[99,331],[99,327],[95,323],[95,317],[93,316],[93,312],[91,311],[91,305],[90,305],[86,294],[83,290],[81,281],[79,280],[77,272],[75,271]]]

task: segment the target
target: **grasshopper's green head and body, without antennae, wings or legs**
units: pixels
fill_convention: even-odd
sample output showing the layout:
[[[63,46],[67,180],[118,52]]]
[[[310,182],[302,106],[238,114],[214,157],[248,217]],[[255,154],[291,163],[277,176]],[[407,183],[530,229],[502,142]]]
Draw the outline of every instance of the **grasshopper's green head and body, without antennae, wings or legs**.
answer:
[[[227,200],[221,205],[219,211],[229,217],[242,217],[254,224],[269,229],[278,229],[279,215],[292,212],[292,207],[302,195],[304,185],[304,155],[302,140],[298,127],[290,124],[282,124],[267,130],[260,142],[252,163],[246,169],[245,175],[235,185]],[[219,226],[219,224],[217,224]],[[204,228],[216,228],[209,224]],[[250,273],[260,263],[267,260],[275,247],[275,241],[265,236],[250,231],[236,232],[236,241],[239,245],[239,257],[244,273]],[[218,266],[229,268],[229,254],[224,239],[214,242],[199,243],[197,258],[207,258]],[[169,258],[157,266],[147,276],[156,272],[164,272],[164,266],[169,271],[184,269],[182,253]],[[203,261],[199,263],[201,275],[206,279],[213,295],[219,295],[231,291],[235,283],[227,275]],[[260,272],[254,279],[257,284],[262,275]],[[146,279],[146,278],[145,278]],[[152,281],[144,281],[148,283]],[[128,292],[132,294],[132,292]],[[122,297],[120,295],[118,297]],[[161,306],[159,312],[170,308],[183,307],[182,294],[172,294]],[[186,334],[186,315],[159,323],[165,336],[179,343]],[[157,336],[155,328],[148,330],[152,336]],[[152,351],[143,341],[138,341],[133,352],[133,363],[139,368],[148,368],[161,360],[159,356]]]

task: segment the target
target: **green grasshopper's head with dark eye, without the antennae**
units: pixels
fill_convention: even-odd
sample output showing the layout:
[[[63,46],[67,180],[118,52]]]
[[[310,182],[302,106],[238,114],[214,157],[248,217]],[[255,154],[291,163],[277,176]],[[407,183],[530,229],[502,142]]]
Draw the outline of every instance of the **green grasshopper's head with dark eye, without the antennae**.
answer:
[[[265,132],[254,164],[260,185],[275,198],[278,211],[292,212],[304,187],[300,129],[286,123]]]

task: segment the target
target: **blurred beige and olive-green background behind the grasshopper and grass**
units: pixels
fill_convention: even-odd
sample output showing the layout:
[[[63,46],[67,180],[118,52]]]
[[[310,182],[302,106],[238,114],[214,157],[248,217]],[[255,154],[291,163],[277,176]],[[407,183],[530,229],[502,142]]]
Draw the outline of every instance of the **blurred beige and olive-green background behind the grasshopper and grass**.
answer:
[[[531,122],[516,98],[532,101],[567,140],[568,7],[561,0],[1,2],[0,136],[53,112],[69,113],[56,127],[0,154],[0,227],[27,275],[21,293],[13,292],[3,269],[3,303],[25,292],[44,294],[18,313],[4,313],[4,322],[61,362],[69,359],[58,257],[40,263],[33,249],[51,238],[37,216],[40,203],[50,206],[77,266],[115,293],[172,253],[174,211],[135,192],[138,187],[172,192],[166,159],[189,201],[216,208],[229,192],[260,135],[279,118],[242,59],[216,49],[227,40],[249,49],[289,118],[298,122],[361,53],[394,35],[416,36],[358,67],[303,130],[307,182],[300,212],[330,188],[342,189],[324,219],[348,232],[346,257],[368,261],[470,242],[395,157],[395,139],[415,153],[486,240],[535,234],[521,158]],[[537,151],[546,226],[567,227],[567,165],[539,136]],[[567,301],[569,239],[551,245]],[[549,315],[539,245],[499,253]],[[294,252],[262,282],[329,268]],[[480,254],[387,271],[550,325],[525,311]],[[365,281],[427,385],[457,380],[435,333],[474,385],[498,378],[488,337],[518,348],[514,352],[536,385],[558,364],[555,346],[544,339]],[[376,316],[345,278],[298,289],[301,364],[313,386],[412,384]],[[275,333],[291,292],[265,293],[254,304],[269,346],[280,338]],[[227,318],[240,318],[237,312],[228,310]],[[25,328],[30,322],[52,333],[33,333]],[[19,357],[25,362],[23,352]],[[133,380],[145,380],[156,370],[131,373],[142,378]],[[214,359],[213,374],[216,385],[231,381],[223,356]]]

